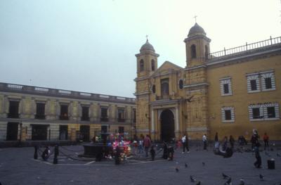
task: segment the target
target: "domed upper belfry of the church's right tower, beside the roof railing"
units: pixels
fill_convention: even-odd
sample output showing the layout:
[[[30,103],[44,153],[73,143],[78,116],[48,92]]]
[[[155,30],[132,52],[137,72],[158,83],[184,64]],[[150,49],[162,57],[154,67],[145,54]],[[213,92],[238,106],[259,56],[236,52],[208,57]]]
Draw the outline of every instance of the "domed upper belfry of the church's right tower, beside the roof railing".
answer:
[[[206,32],[200,25],[195,23],[184,40],[186,52],[186,67],[202,65],[208,59],[211,39],[206,37]]]

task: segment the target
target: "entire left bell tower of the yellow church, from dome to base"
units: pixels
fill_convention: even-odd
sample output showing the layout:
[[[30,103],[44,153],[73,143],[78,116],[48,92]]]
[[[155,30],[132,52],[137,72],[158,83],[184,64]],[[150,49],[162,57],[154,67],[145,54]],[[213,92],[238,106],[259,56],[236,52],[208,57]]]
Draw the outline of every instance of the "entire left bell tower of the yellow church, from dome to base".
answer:
[[[157,58],[153,46],[146,40],[136,54],[136,133],[138,136],[150,134],[150,75],[157,70]]]

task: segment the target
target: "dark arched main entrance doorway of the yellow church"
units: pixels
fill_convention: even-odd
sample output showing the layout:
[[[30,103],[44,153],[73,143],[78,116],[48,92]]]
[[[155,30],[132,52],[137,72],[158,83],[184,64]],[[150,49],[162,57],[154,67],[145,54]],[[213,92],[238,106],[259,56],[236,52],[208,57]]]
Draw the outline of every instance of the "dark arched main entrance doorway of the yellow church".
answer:
[[[163,110],[160,120],[162,141],[171,141],[175,137],[174,113],[169,109]]]

